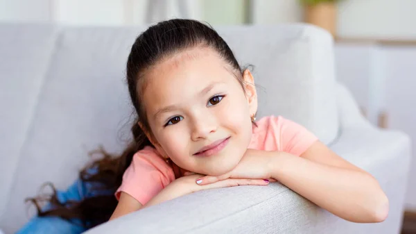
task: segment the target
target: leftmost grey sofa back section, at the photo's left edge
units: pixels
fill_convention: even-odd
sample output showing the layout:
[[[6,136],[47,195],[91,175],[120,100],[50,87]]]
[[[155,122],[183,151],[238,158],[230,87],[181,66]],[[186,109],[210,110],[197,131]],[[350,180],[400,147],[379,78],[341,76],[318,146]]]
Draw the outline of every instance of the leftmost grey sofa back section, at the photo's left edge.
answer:
[[[0,220],[57,32],[51,25],[0,24]]]

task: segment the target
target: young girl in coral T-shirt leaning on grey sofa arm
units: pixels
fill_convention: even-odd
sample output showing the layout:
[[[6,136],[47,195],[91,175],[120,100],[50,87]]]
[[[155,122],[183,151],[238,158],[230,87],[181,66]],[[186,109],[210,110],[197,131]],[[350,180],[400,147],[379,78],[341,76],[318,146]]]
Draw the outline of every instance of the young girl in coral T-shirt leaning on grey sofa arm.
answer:
[[[134,141],[81,173],[78,187],[89,194],[78,203],[58,197],[40,215],[95,226],[200,190],[279,181],[351,222],[387,217],[388,199],[370,174],[288,119],[255,122],[254,78],[209,26],[151,26],[132,46],[127,80]]]

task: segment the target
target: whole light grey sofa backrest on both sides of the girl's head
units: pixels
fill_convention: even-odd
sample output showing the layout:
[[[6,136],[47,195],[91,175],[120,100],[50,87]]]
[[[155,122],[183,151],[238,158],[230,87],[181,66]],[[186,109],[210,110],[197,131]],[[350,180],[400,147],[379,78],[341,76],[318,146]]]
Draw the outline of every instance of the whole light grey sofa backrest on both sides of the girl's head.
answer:
[[[89,160],[88,151],[103,144],[119,153],[127,144],[133,109],[124,81],[125,62],[135,37],[145,28],[49,28],[50,37],[36,26],[0,25],[0,32],[4,28],[11,28],[17,40],[46,37],[28,47],[33,59],[24,63],[27,54],[19,50],[26,47],[15,46],[8,52],[14,60],[0,53],[1,60],[17,68],[0,70],[0,82],[6,83],[1,93],[10,90],[6,110],[14,111],[1,115],[1,122],[10,122],[6,138],[18,139],[0,142],[2,148],[13,145],[1,156],[1,169],[8,171],[5,177],[1,174],[0,184],[7,194],[0,200],[6,206],[0,226],[12,232],[27,221],[24,199],[37,194],[45,181],[64,189]],[[300,24],[226,27],[218,32],[242,65],[255,65],[254,76],[261,85],[259,116],[283,115],[309,128],[323,142],[335,138],[333,42],[328,33]],[[3,41],[0,51],[10,47]],[[6,82],[10,74],[17,80]],[[26,124],[17,126],[21,122]]]

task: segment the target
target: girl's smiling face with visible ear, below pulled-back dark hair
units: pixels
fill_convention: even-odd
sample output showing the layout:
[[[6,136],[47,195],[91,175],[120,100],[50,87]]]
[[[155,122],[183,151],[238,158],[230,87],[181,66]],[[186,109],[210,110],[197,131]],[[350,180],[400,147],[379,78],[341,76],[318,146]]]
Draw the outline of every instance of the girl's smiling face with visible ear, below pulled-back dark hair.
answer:
[[[216,51],[196,47],[146,73],[143,100],[153,145],[182,169],[218,176],[239,163],[257,112],[252,75],[243,87]]]

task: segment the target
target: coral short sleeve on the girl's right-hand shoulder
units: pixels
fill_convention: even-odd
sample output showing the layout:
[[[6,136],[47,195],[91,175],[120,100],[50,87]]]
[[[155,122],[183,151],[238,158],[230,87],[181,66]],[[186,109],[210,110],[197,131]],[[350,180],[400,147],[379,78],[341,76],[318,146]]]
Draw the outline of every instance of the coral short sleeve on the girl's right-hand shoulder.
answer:
[[[309,149],[314,142],[318,141],[318,137],[304,126],[289,119],[278,117],[277,123],[280,128],[281,148],[284,152],[301,156],[306,149]]]

